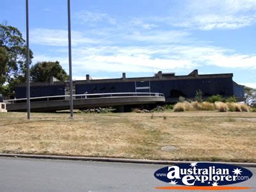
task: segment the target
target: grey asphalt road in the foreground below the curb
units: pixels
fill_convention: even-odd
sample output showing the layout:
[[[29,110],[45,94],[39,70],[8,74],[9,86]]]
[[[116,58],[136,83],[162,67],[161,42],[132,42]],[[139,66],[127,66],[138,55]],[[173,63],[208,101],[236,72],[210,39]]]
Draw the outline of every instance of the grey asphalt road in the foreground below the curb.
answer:
[[[163,166],[0,157],[0,191],[160,191],[168,184],[154,172]],[[248,169],[253,177],[236,186],[255,191],[256,168]]]

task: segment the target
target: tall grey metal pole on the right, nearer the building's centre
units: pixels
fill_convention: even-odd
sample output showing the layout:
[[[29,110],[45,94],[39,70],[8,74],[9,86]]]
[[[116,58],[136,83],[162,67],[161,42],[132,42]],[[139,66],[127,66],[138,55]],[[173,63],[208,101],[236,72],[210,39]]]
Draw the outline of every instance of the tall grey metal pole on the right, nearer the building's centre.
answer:
[[[73,82],[72,82],[70,0],[68,0],[68,64],[69,64],[69,90],[70,90],[70,117],[73,118],[74,112],[73,112]]]

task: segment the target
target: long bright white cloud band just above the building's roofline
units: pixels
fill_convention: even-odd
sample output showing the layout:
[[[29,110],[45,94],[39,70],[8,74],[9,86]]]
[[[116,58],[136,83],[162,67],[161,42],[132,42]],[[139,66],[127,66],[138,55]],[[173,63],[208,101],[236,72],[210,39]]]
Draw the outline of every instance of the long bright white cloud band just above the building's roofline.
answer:
[[[63,53],[56,51],[55,54]],[[33,61],[60,61],[68,71],[67,54],[51,57],[35,54]],[[221,47],[196,45],[77,47],[72,52],[74,76],[90,72],[164,72],[202,66],[256,69],[256,55],[237,54]]]

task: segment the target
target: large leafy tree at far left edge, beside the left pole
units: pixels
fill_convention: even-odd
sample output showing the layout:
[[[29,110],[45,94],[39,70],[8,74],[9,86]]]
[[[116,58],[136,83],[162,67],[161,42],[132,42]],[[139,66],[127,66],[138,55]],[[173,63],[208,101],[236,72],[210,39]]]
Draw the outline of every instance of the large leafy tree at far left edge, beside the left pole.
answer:
[[[33,52],[29,54],[31,63]],[[26,81],[25,40],[19,29],[6,24],[0,24],[0,74],[0,91],[5,96],[13,93],[15,84]]]

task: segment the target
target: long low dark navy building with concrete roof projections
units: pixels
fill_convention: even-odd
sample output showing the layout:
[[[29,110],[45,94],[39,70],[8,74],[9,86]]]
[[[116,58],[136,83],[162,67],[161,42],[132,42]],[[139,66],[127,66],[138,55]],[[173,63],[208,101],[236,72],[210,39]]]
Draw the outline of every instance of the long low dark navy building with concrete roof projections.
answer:
[[[199,75],[198,70],[193,70],[187,76],[175,76],[174,73],[155,74],[154,77],[127,78],[125,73],[116,79],[95,79],[86,75],[86,80],[74,81],[73,91],[83,93],[122,93],[122,92],[151,92],[164,93],[166,102],[175,102],[179,96],[193,99],[196,91],[201,90],[203,97],[235,95],[237,100],[244,100],[244,86],[232,80],[233,74],[205,74]],[[68,83],[54,81],[50,83],[31,83],[31,97],[53,95],[67,95]],[[26,84],[19,84],[15,89],[15,97],[26,97]]]

